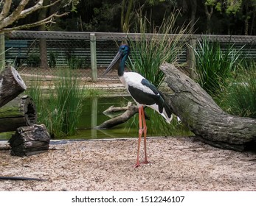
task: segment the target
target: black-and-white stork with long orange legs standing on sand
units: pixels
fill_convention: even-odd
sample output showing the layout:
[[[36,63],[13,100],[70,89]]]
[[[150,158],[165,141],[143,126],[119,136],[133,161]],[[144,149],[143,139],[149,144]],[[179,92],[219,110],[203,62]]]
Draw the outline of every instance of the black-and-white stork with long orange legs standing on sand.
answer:
[[[172,114],[170,107],[167,106],[165,100],[162,98],[159,91],[156,87],[142,77],[142,75],[136,72],[125,72],[125,61],[128,59],[130,53],[130,48],[127,44],[120,46],[120,49],[117,55],[114,57],[114,60],[108,65],[108,68],[105,70],[103,75],[107,74],[111,68],[114,67],[117,63],[119,64],[118,75],[125,88],[131,94],[132,98],[139,107],[139,143],[137,150],[137,159],[135,167],[139,166],[139,147],[140,141],[142,138],[142,133],[144,133],[144,151],[145,151],[145,160],[143,163],[149,163],[147,158],[146,150],[146,135],[147,135],[147,126],[145,121],[145,113],[143,107],[151,107],[153,110],[156,110],[160,115],[162,115],[165,120],[170,123],[172,119]]]

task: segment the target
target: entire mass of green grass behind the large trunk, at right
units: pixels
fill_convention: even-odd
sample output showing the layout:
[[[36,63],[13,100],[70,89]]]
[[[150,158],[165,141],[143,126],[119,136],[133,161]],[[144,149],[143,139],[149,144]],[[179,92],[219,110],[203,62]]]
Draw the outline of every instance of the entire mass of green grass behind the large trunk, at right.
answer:
[[[196,50],[197,81],[227,112],[256,117],[256,63],[234,45],[204,39]]]

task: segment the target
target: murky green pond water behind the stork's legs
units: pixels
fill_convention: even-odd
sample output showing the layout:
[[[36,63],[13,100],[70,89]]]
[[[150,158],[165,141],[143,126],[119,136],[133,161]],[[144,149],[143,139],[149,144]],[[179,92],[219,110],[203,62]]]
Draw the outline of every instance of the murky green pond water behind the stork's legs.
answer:
[[[130,96],[116,97],[91,97],[83,100],[83,113],[77,129],[77,135],[66,137],[67,139],[96,139],[96,138],[129,138],[138,136],[138,114],[130,118],[127,122],[111,129],[91,129],[111,117],[103,114],[103,111],[114,105],[115,107],[125,107],[128,102],[133,102]],[[182,123],[178,123],[176,118],[171,124],[167,124],[162,116],[147,108],[145,112],[150,117],[147,121],[147,136],[180,136],[192,135]],[[118,114],[117,114],[118,115]],[[62,138],[63,139],[63,138]]]

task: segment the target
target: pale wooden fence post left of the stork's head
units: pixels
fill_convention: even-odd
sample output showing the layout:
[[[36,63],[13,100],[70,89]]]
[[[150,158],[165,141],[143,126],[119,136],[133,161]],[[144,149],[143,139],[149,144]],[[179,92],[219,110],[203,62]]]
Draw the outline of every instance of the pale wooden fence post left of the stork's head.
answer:
[[[97,57],[96,57],[96,36],[90,33],[90,49],[91,49],[91,79],[97,82]]]

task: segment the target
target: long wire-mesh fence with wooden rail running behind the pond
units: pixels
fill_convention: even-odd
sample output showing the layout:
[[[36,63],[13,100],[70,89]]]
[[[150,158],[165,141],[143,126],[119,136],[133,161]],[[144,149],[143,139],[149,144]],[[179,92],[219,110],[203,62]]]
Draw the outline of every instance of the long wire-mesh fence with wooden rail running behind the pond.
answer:
[[[151,38],[151,35],[146,36]],[[54,76],[58,75],[57,68],[69,66],[79,77],[100,82],[108,80],[103,79],[101,74],[113,59],[120,43],[128,38],[138,40],[140,36],[100,32],[13,31],[5,34],[5,59],[7,64],[14,64],[21,74]],[[204,38],[223,45],[234,43],[236,48],[244,46],[248,57],[256,59],[255,36],[183,35],[181,40],[189,42]],[[191,49],[179,54],[180,62],[187,61],[189,51]],[[118,79],[116,73],[108,75],[108,78]]]

